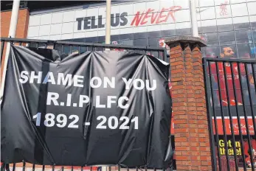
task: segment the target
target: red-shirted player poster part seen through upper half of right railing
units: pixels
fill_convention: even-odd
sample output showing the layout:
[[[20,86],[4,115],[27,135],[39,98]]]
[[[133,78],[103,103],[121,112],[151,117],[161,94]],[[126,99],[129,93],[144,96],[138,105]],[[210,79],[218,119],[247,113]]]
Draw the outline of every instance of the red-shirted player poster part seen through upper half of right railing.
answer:
[[[226,60],[229,61],[230,58]],[[221,116],[221,108],[223,108],[224,116],[229,116],[228,108],[230,108],[231,116],[245,116],[243,108],[248,116],[252,114],[256,116],[254,76],[256,65],[255,62],[244,61],[240,64],[235,60],[226,63],[223,61],[208,63],[207,71],[212,93],[210,95],[211,105],[214,105],[217,116]]]

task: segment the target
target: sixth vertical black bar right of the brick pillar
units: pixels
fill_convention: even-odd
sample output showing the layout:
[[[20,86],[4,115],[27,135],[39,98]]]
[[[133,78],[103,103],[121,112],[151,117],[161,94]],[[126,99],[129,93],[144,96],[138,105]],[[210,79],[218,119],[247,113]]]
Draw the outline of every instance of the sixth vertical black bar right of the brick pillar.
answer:
[[[249,135],[249,124],[248,124],[248,118],[247,118],[247,114],[246,114],[246,108],[245,108],[245,100],[244,100],[244,94],[243,94],[243,84],[242,84],[242,73],[241,73],[241,69],[240,69],[240,65],[241,63],[238,63],[238,74],[239,74],[239,82],[240,82],[240,88],[241,88],[241,94],[242,94],[242,102],[243,102],[243,114],[245,115],[244,120],[246,122],[246,134],[248,136],[248,142],[249,142],[249,150],[250,150],[250,158],[251,158],[251,164],[252,164],[252,170],[255,170],[255,164],[252,158],[252,142],[251,142],[251,137]]]

